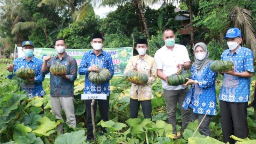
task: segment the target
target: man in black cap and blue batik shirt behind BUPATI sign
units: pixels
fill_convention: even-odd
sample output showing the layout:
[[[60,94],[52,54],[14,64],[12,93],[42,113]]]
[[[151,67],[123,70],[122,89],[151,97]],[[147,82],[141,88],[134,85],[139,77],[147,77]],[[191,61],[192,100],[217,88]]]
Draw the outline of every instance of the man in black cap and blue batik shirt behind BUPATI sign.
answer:
[[[109,105],[109,81],[103,84],[92,84],[88,75],[90,71],[97,71],[98,66],[101,68],[107,68],[110,71],[110,78],[114,75],[114,66],[112,57],[109,53],[102,50],[103,47],[103,37],[100,33],[95,33],[92,36],[92,48],[93,50],[84,53],[82,61],[80,63],[80,68],[78,69],[78,73],[80,75],[85,75],[85,85],[84,85],[84,94],[90,93],[99,93],[99,94],[107,94],[107,100],[95,100],[94,104],[94,116],[96,114],[97,102],[99,104],[100,117],[103,121],[108,121],[108,105]],[[85,100],[86,105],[86,117],[87,117],[87,140],[93,140],[93,129],[92,129],[92,114],[91,114],[91,102],[92,100]],[[102,131],[105,131],[102,129]]]

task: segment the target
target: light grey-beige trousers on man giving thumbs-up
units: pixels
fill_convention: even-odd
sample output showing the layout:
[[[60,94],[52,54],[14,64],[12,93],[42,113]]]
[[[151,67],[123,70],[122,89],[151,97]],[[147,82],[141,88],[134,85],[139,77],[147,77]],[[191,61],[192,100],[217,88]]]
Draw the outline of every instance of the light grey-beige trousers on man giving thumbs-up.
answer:
[[[52,97],[52,113],[56,115],[56,119],[62,119],[62,108],[65,111],[67,121],[66,123],[72,127],[76,127],[75,108],[73,103],[73,97]],[[63,133],[63,124],[60,123],[57,126],[57,130]]]

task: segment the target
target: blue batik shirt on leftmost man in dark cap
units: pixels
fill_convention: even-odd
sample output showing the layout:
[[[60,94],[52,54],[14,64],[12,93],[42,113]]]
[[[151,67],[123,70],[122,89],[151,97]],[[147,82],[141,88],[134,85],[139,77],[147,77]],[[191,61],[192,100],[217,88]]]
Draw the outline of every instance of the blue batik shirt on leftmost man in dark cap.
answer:
[[[21,57],[21,58],[15,59],[13,61],[13,64],[14,64],[14,69],[13,69],[14,72],[22,66],[25,68],[26,67],[33,68],[35,70],[36,77],[35,77],[34,83],[22,83],[20,89],[25,90],[25,92],[28,93],[28,96],[30,98],[34,96],[43,97],[45,95],[45,92],[43,90],[43,85],[42,85],[42,82],[44,81],[44,75],[41,73],[43,61],[34,56],[29,61],[27,61],[25,57]],[[7,78],[12,79],[14,75],[15,73],[8,75]]]

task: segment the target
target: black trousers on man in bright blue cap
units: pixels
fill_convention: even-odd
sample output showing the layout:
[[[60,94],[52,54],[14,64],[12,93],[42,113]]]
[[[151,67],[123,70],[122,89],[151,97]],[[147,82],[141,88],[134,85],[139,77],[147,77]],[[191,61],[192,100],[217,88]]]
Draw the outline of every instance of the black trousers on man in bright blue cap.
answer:
[[[247,102],[220,100],[221,129],[224,143],[234,144],[231,135],[244,139],[248,137]]]

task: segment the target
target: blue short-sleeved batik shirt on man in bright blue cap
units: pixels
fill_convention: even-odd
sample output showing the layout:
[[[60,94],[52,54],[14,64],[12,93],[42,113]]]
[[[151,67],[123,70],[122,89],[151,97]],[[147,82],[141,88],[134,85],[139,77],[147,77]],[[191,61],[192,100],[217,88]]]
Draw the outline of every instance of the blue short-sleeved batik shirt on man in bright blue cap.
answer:
[[[235,72],[254,72],[253,54],[248,48],[239,46],[233,54],[231,54],[229,49],[225,50],[221,55],[221,60],[231,60],[234,63]],[[248,102],[250,84],[251,78],[224,74],[219,99],[228,102]]]

